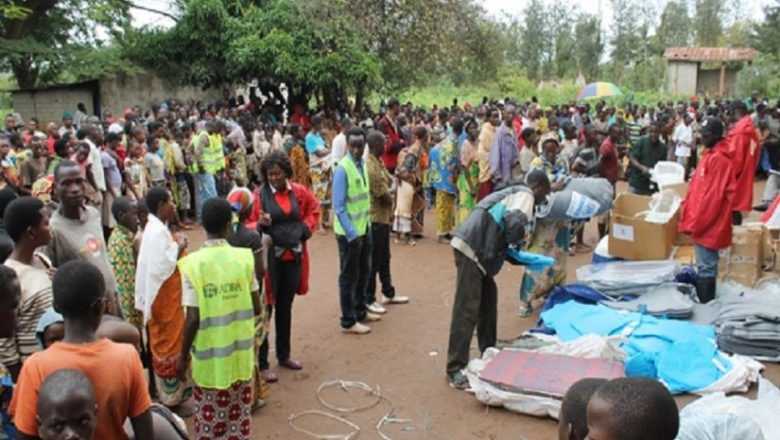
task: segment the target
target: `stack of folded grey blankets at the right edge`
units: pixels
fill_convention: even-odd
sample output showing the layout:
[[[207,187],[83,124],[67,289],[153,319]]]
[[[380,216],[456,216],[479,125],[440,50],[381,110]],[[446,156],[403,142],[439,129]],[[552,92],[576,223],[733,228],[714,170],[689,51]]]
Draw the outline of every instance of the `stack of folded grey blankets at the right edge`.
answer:
[[[780,292],[728,294],[717,300],[718,347],[758,360],[780,361]]]

